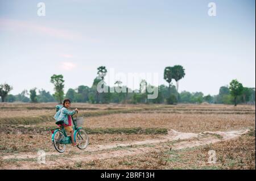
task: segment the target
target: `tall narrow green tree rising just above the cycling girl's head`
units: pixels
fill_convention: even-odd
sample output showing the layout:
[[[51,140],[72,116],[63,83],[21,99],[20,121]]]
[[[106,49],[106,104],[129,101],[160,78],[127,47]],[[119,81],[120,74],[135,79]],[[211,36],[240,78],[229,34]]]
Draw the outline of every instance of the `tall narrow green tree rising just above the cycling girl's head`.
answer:
[[[61,103],[64,99],[64,82],[65,81],[63,79],[63,75],[54,74],[51,77],[51,83],[53,83],[53,85],[55,86],[55,93],[53,94],[53,96],[57,101],[59,101],[59,103]]]

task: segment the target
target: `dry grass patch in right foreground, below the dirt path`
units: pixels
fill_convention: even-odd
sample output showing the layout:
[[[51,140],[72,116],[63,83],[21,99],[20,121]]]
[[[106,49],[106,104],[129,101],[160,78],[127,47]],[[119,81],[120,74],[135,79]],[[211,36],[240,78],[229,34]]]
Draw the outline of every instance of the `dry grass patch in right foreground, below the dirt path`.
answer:
[[[236,140],[183,150],[162,148],[160,153],[139,154],[115,159],[77,162],[68,169],[254,169],[255,137],[245,135]],[[208,151],[215,150],[217,162],[208,163]],[[62,169],[67,169],[65,166]]]

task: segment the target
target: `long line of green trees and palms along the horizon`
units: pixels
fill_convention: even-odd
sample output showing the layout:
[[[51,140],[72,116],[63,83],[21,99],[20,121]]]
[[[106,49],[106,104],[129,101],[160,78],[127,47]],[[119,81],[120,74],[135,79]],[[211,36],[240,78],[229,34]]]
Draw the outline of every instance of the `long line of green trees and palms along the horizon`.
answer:
[[[142,80],[138,90],[131,90],[129,87],[122,85],[121,81],[116,81],[114,87],[106,85],[104,77],[108,73],[105,66],[100,66],[97,69],[97,77],[94,79],[92,86],[81,85],[76,89],[68,89],[64,93],[64,77],[63,75],[52,75],[50,82],[54,85],[55,93],[52,95],[49,91],[38,90],[34,88],[29,91],[24,90],[18,95],[9,94],[13,87],[4,83],[0,85],[0,96],[2,102],[62,102],[64,98],[71,99],[77,103],[93,103],[93,104],[108,104],[108,103],[128,103],[128,104],[176,104],[176,103],[194,103],[200,104],[203,102],[210,104],[255,104],[255,88],[243,87],[242,83],[236,79],[232,80],[229,86],[220,87],[218,95],[204,95],[203,92],[188,92],[179,89],[179,81],[185,76],[185,69],[181,65],[166,67],[164,69],[164,80],[168,83],[160,85],[158,89],[158,97],[156,99],[147,99],[147,89],[145,86],[151,86],[145,80]],[[175,80],[176,86],[173,85],[172,79]],[[102,86],[106,86],[108,90],[118,87],[126,92],[98,92],[98,83],[102,82]],[[101,86],[101,85],[100,85]],[[143,91],[144,90],[144,91]],[[146,91],[145,91],[146,90]]]

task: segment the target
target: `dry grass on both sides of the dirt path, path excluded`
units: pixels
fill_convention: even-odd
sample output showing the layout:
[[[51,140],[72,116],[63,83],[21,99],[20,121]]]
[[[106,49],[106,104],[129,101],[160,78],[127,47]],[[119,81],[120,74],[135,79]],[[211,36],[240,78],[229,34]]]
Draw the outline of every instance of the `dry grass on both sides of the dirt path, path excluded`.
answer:
[[[53,115],[56,103],[0,103],[0,153],[36,153],[39,149],[53,151],[49,127],[55,127]],[[228,131],[241,128],[255,129],[255,106],[237,107],[217,104],[130,105],[75,103],[85,116],[84,128],[91,131],[116,129],[166,128],[180,132]],[[7,125],[3,125],[7,124]],[[8,125],[9,124],[9,125]],[[13,125],[16,124],[16,125]],[[34,124],[24,127],[19,124]],[[42,127],[43,131],[37,131]],[[5,132],[10,129],[9,134]],[[45,129],[44,129],[45,128]],[[108,130],[107,130],[108,129]],[[129,131],[129,129],[127,129]],[[13,134],[15,133],[15,134]],[[106,132],[105,132],[106,133]],[[199,148],[106,159],[93,163],[79,163],[72,169],[255,169],[255,131],[236,140],[222,141]],[[157,139],[158,134],[90,134],[91,145],[127,143]],[[70,150],[68,145],[65,154]],[[209,165],[209,149],[217,152],[218,163]],[[71,152],[70,152],[71,153]],[[73,152],[72,152],[73,153]],[[1,164],[0,160],[0,164]]]

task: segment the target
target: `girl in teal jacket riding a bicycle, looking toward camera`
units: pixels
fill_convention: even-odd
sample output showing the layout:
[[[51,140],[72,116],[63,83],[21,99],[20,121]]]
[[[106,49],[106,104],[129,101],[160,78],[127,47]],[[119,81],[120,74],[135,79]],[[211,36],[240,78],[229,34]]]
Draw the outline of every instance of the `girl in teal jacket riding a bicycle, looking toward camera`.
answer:
[[[73,111],[68,111],[68,108],[71,106],[71,101],[69,99],[65,99],[63,102],[63,106],[57,105],[56,106],[56,114],[54,116],[54,119],[57,121],[63,121],[64,122],[64,129],[67,133],[71,133],[71,140],[72,145],[77,146],[76,142],[74,141],[74,131],[72,129],[72,123],[71,123],[71,116],[75,115],[76,111],[78,112],[77,108]],[[60,127],[61,125],[59,125]]]

